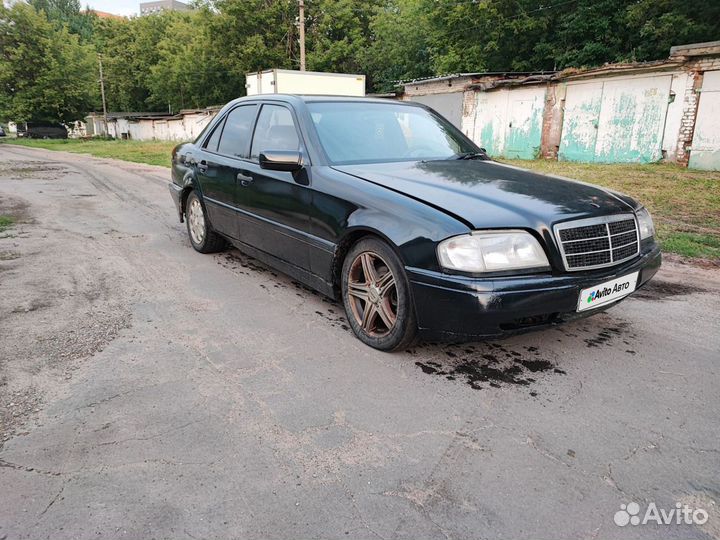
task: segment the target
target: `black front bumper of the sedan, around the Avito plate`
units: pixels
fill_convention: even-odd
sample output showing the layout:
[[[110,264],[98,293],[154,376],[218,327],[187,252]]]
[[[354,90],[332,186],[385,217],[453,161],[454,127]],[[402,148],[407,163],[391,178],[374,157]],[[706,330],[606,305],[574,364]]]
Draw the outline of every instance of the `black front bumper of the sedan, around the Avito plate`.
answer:
[[[418,268],[406,271],[422,336],[467,339],[523,332],[604,311],[622,299],[577,312],[580,291],[639,272],[637,290],[660,264],[660,247],[653,244],[625,264],[583,273],[479,279]]]

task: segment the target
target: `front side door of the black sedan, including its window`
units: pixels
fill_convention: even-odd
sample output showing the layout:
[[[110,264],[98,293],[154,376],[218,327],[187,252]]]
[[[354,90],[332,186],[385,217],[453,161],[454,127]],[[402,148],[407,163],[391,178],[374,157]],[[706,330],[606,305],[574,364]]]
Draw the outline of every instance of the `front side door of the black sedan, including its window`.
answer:
[[[306,171],[291,173],[260,168],[258,158],[269,150],[303,151],[290,107],[265,103],[258,114],[249,160],[235,170],[234,206],[238,234],[259,250],[309,269],[309,220],[312,208]],[[307,155],[305,153],[305,155]]]

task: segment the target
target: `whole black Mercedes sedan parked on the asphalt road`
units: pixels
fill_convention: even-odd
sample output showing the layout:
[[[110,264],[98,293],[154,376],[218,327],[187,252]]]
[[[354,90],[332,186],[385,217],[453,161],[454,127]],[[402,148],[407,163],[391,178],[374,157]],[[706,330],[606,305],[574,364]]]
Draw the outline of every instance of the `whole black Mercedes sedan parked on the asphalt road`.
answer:
[[[491,161],[419,104],[237,99],[173,150],[172,180],[197,251],[231,243],[341,299],[382,350],[597,313],[660,266],[630,197]]]

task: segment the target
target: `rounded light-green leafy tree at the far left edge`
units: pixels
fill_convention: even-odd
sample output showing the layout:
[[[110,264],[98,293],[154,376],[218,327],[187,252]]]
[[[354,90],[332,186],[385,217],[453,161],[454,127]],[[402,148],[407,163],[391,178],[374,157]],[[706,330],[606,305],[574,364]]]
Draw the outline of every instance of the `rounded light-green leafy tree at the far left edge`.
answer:
[[[25,3],[0,6],[0,116],[69,122],[82,119],[96,99],[91,47]]]

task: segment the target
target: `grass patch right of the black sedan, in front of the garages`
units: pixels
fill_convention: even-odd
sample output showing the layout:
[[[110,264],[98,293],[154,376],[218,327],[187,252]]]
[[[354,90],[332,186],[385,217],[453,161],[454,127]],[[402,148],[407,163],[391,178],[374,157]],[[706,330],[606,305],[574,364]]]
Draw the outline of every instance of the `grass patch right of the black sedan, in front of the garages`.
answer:
[[[665,251],[720,260],[720,172],[696,171],[671,163],[502,161],[626,193],[650,210]]]

